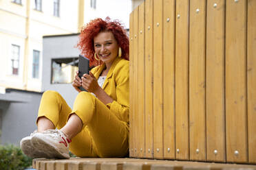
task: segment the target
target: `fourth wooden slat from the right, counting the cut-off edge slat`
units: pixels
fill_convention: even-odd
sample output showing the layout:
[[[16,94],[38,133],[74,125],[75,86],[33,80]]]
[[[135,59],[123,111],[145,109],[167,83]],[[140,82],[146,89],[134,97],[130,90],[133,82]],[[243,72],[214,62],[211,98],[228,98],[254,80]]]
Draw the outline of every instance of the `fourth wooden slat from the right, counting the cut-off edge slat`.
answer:
[[[206,160],[205,16],[206,1],[190,1],[189,144],[190,160]],[[199,36],[200,35],[200,36]]]

